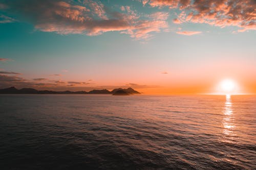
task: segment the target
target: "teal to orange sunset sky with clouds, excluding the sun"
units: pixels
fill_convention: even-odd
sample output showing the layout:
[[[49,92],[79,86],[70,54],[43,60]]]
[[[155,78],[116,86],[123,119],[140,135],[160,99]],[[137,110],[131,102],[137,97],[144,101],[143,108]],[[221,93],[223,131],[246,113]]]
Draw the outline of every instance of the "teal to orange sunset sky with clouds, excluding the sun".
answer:
[[[254,0],[0,0],[0,88],[256,93]]]

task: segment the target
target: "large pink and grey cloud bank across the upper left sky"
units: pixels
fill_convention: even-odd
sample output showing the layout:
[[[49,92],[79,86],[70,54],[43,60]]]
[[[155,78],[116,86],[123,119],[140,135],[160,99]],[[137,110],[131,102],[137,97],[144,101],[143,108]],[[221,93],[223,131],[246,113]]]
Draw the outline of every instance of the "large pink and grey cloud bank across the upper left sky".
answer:
[[[58,34],[95,36],[118,31],[140,40],[168,28],[167,13],[137,14],[129,6],[121,7],[123,11],[120,13],[107,9],[100,1],[14,0],[6,1],[6,6],[32,22],[35,29]]]

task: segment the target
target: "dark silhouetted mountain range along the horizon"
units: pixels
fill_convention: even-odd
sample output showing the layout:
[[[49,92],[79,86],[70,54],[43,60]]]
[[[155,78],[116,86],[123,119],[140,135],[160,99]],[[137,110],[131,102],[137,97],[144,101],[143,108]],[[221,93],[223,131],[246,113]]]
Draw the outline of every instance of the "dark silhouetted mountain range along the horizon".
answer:
[[[119,91],[119,92],[118,92]],[[121,92],[122,91],[122,92]],[[117,93],[117,94],[115,94]],[[117,88],[112,91],[103,89],[103,90],[91,90],[87,91],[51,91],[51,90],[36,90],[33,88],[22,88],[16,89],[15,87],[9,87],[5,89],[0,89],[0,94],[113,94],[118,95],[118,93],[123,93],[124,95],[129,94],[140,94],[140,92],[134,90],[133,88]]]

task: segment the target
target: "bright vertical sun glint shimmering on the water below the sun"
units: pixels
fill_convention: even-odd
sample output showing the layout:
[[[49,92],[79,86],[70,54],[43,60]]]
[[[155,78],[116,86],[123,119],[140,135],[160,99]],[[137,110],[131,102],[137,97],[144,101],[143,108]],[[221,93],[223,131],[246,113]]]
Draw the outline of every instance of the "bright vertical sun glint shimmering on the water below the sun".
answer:
[[[233,124],[234,117],[233,117],[233,110],[232,110],[232,101],[231,101],[231,95],[226,95],[226,102],[224,107],[224,118],[222,121],[223,124],[223,134],[225,134],[226,137],[234,136],[233,130],[236,128],[236,126]],[[229,138],[230,139],[230,138]],[[228,140],[230,142],[230,140]]]

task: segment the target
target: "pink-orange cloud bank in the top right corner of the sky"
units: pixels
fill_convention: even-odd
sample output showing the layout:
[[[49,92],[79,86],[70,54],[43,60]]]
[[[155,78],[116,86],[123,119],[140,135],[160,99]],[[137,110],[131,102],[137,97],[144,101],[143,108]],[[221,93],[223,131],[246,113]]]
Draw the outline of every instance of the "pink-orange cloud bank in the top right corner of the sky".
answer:
[[[174,23],[207,23],[217,27],[237,26],[237,32],[256,30],[255,0],[149,0],[141,1],[151,7],[181,10]]]

